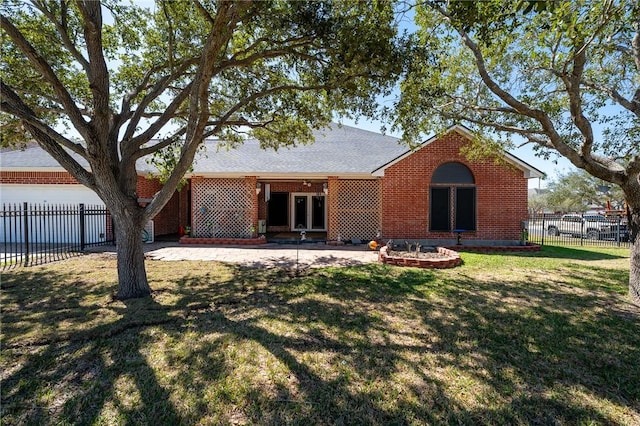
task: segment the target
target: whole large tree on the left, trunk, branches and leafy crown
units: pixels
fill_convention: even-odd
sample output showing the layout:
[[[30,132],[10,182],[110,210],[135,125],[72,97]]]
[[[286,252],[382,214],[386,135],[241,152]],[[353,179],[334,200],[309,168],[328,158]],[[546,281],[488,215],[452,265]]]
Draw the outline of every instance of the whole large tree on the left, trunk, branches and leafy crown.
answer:
[[[122,298],[149,293],[141,243],[127,238],[167,203],[205,138],[304,143],[335,113],[371,113],[402,62],[387,2],[7,0],[0,10],[2,144],[35,139],[102,198],[122,234]],[[153,155],[165,185],[143,207],[135,163]]]

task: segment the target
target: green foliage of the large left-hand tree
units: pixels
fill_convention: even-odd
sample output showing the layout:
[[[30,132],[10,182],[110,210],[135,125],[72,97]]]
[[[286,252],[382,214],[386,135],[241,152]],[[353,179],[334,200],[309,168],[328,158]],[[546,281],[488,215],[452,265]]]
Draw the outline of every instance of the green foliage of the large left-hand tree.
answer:
[[[221,15],[224,11],[230,11],[229,18]],[[124,144],[117,151],[134,156],[135,147],[125,145],[130,140],[146,144],[157,132],[135,137],[149,126],[179,132],[176,124],[186,129],[196,121],[200,124],[193,129],[203,129],[200,140],[225,129],[258,129],[255,135],[265,137],[266,145],[290,143],[291,138],[278,142],[273,135],[294,122],[293,127],[318,127],[334,111],[373,114],[376,95],[389,91],[400,71],[402,54],[387,2],[158,0],[145,9],[109,0],[101,12],[101,24],[89,23],[75,3],[7,2],[3,13],[29,47],[3,37],[0,75],[37,111],[30,119],[47,121],[52,128],[69,122],[68,105],[52,90],[57,83],[43,78],[25,54],[33,49],[52,67],[58,90],[68,92],[91,122],[96,111],[89,77],[96,77],[96,69],[89,49],[96,46],[88,46],[85,28],[101,25],[102,45],[97,47],[107,61],[103,78],[108,79],[114,126],[102,133],[124,132],[124,140],[115,141]],[[205,52],[208,43],[217,50]],[[207,70],[204,55],[210,55]],[[206,78],[201,94],[193,86],[202,83],[199,78]],[[196,103],[187,101],[202,95],[206,98]]]

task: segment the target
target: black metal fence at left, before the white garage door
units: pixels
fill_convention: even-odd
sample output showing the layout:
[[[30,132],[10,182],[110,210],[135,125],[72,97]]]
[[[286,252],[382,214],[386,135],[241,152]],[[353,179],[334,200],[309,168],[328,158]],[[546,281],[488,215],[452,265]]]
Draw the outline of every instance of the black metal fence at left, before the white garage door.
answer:
[[[113,244],[113,220],[104,206],[3,204],[2,269],[40,265]]]

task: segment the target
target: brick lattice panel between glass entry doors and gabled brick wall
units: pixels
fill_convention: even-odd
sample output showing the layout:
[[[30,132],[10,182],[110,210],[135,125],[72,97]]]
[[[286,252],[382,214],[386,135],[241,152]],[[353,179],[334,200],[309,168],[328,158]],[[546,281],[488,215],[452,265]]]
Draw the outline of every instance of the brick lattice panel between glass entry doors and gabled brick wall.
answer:
[[[329,212],[341,239],[370,240],[381,229],[381,184],[378,180],[338,180],[337,205]]]

